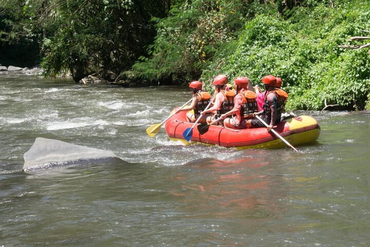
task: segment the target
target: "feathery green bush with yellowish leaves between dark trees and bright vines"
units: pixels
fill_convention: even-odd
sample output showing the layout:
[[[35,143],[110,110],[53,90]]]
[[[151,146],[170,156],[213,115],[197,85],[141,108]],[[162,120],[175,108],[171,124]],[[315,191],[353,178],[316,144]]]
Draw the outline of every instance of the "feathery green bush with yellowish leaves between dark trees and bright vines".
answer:
[[[172,6],[156,25],[157,36],[148,46],[150,57],[140,57],[132,69],[143,79],[198,78],[222,47],[235,39],[246,20],[243,0],[194,0]]]

